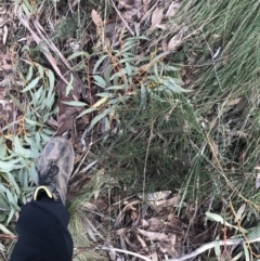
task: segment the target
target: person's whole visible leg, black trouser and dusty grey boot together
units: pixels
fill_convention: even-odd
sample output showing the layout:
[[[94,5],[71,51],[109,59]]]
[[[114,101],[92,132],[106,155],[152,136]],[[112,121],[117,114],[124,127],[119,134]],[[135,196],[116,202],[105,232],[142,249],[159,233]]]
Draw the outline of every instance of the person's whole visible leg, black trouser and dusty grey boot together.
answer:
[[[10,261],[69,261],[73,240],[65,208],[67,182],[74,167],[74,151],[64,138],[54,138],[40,158],[39,182],[31,203],[21,211],[18,240]]]

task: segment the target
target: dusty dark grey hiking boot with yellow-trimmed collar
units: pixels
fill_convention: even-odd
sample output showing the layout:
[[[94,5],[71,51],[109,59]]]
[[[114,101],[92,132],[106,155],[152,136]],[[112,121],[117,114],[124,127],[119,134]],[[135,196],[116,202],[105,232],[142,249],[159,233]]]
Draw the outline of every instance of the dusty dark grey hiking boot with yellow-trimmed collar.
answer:
[[[34,193],[37,200],[42,191],[55,201],[66,203],[67,183],[74,169],[74,148],[63,136],[51,139],[38,164],[39,182]]]

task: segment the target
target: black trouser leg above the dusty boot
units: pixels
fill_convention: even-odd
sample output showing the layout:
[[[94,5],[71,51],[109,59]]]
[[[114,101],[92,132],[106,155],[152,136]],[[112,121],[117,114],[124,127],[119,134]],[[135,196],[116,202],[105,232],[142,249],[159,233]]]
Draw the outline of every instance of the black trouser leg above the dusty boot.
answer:
[[[18,240],[10,261],[72,261],[69,214],[61,203],[47,197],[26,204],[16,224]]]

